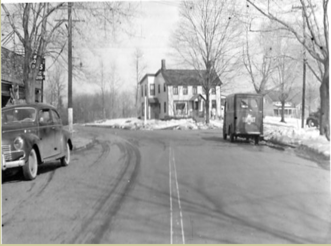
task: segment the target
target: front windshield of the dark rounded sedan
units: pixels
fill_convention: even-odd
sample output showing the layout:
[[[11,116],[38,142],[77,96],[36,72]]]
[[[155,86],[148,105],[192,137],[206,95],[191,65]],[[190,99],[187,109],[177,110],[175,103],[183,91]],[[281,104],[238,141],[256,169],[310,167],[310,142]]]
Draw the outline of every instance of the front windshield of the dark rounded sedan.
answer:
[[[33,122],[35,120],[34,108],[13,108],[1,112],[1,123]]]

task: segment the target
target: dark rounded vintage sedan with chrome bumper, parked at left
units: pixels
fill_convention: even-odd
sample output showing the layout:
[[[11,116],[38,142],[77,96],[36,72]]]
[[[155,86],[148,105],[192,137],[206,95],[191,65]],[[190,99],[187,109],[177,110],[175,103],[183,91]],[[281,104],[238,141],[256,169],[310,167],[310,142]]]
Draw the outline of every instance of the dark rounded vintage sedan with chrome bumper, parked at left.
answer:
[[[63,128],[57,110],[43,103],[19,104],[1,109],[1,170],[22,168],[33,180],[45,161],[70,161],[71,135]]]

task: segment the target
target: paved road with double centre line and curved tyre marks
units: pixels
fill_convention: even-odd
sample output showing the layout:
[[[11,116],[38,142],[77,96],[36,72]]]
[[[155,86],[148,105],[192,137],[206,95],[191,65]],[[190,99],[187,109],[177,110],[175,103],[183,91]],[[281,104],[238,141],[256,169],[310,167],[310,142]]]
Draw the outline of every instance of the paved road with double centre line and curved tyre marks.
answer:
[[[83,128],[93,148],[2,184],[2,243],[330,243],[330,170],[217,130]]]

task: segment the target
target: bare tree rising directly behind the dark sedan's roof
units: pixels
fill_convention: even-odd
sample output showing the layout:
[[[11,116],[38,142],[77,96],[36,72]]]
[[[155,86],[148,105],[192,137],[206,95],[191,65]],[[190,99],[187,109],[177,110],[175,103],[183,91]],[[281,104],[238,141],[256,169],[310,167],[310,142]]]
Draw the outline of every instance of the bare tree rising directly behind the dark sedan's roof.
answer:
[[[58,34],[63,21],[55,25],[49,23],[52,14],[55,14],[65,3],[20,3],[10,5],[1,3],[5,18],[18,37],[24,48],[23,82],[25,85],[26,102],[35,101],[35,78],[42,58],[46,55],[49,43]],[[15,15],[16,13],[16,15]],[[18,14],[17,14],[18,13]],[[22,29],[23,27],[23,29]],[[36,61],[33,62],[33,56]]]

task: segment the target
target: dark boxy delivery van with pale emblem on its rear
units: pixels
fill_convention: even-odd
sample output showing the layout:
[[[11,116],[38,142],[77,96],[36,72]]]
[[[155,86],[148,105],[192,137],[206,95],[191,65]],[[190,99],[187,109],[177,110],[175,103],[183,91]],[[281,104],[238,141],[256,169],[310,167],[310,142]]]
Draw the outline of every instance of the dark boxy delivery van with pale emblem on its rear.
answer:
[[[263,137],[263,96],[253,93],[235,93],[225,101],[223,139],[254,138],[255,144]]]

